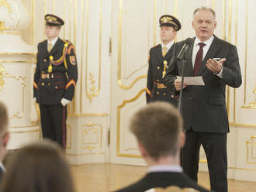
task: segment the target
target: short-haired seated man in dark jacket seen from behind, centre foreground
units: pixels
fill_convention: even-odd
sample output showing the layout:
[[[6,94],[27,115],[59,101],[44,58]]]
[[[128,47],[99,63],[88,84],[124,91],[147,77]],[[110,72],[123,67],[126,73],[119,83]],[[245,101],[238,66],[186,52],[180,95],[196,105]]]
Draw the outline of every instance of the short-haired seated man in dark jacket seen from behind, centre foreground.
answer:
[[[186,176],[179,166],[180,149],[185,142],[182,125],[177,109],[164,101],[152,102],[133,115],[130,130],[137,138],[149,170],[141,180],[118,192],[142,192],[170,186],[208,191]]]

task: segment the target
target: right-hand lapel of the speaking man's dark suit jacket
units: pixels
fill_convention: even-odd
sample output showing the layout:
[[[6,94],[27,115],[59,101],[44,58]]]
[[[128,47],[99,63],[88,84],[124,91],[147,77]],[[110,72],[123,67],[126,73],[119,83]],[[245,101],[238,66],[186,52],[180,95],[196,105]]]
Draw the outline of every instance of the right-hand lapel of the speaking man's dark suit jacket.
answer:
[[[215,57],[216,53],[220,50],[221,43],[219,42],[220,42],[219,39],[216,36],[214,36],[213,43],[211,44],[211,46],[209,46],[209,50],[206,53],[206,57],[202,60],[202,63],[199,69],[199,75],[202,74],[204,70],[206,70],[207,60]]]

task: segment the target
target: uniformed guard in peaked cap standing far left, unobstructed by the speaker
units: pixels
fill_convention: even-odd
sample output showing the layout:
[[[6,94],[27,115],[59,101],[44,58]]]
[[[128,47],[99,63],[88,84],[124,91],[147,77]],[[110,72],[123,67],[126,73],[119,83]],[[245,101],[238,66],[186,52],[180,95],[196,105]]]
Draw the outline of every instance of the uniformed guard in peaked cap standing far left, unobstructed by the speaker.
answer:
[[[67,104],[74,97],[78,66],[72,43],[59,38],[64,21],[50,14],[44,19],[47,39],[38,44],[33,97],[40,104],[43,138],[65,149]]]

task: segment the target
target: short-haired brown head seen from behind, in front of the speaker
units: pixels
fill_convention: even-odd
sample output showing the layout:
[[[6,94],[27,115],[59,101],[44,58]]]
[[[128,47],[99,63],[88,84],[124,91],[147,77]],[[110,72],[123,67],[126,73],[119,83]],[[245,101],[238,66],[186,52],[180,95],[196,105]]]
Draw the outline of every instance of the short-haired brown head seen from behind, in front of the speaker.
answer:
[[[150,165],[164,158],[179,162],[179,149],[185,142],[182,117],[167,102],[157,101],[133,115],[130,130],[136,136],[140,153]]]

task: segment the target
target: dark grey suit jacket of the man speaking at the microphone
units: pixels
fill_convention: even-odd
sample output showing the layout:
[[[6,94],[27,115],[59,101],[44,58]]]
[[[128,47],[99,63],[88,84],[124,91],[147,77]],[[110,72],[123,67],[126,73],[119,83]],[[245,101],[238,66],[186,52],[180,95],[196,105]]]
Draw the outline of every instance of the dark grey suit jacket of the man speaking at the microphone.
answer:
[[[194,40],[195,38],[189,39],[191,45],[187,51],[185,77],[193,76],[192,48]],[[176,43],[173,60],[171,60],[171,66],[168,67],[165,76],[165,84],[173,92],[176,92],[174,87],[176,76],[182,74],[182,61],[178,62],[175,58],[184,43],[185,41]],[[214,57],[227,59],[223,63],[222,78],[217,77],[206,67],[207,60]],[[229,132],[225,101],[226,85],[240,87],[242,83],[236,46],[214,36],[213,43],[202,60],[199,76],[202,76],[205,86],[187,86],[183,91],[181,109],[185,129],[192,128],[195,132]]]

